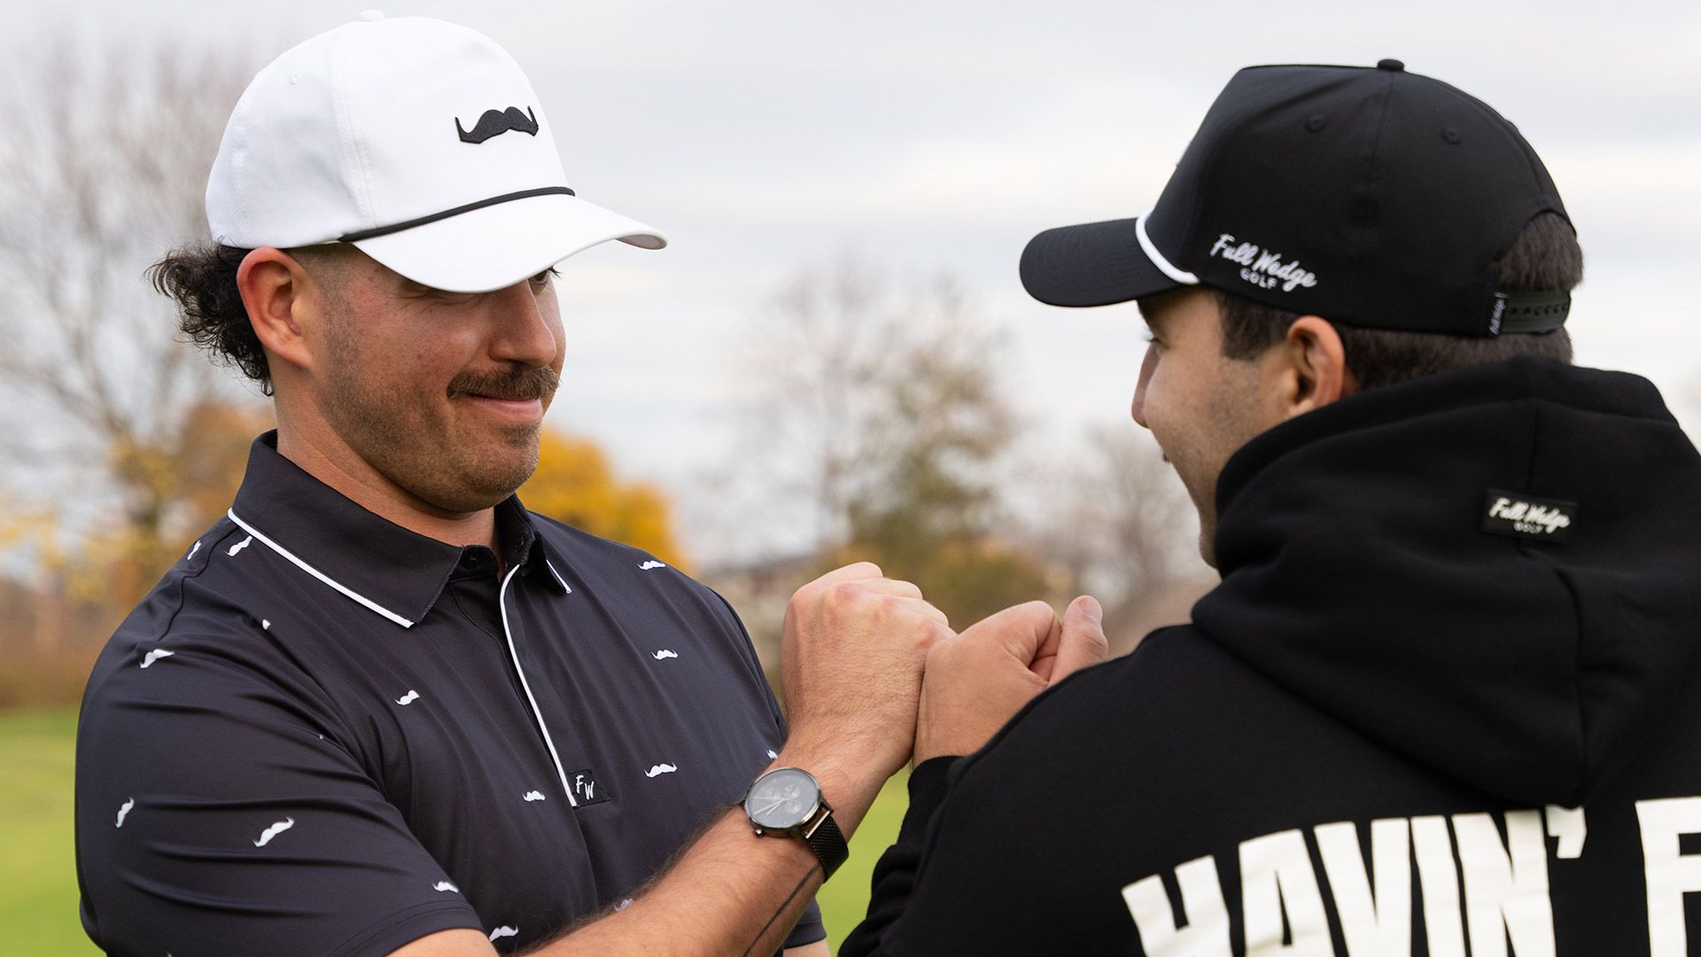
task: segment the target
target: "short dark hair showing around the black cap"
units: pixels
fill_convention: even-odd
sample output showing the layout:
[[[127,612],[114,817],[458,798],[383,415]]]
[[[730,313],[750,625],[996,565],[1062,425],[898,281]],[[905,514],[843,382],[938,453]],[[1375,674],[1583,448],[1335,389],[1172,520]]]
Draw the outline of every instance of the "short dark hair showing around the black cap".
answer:
[[[1570,221],[1556,213],[1538,215],[1495,262],[1495,276],[1497,288],[1507,293],[1575,288],[1584,279],[1584,250],[1577,245]],[[1230,359],[1254,359],[1264,354],[1288,335],[1288,327],[1300,318],[1296,312],[1221,289],[1213,291],[1223,325],[1223,356]],[[1398,385],[1512,356],[1572,361],[1572,337],[1565,329],[1478,337],[1363,329],[1337,322],[1335,330],[1340,334],[1347,368],[1352,370],[1359,388]]]

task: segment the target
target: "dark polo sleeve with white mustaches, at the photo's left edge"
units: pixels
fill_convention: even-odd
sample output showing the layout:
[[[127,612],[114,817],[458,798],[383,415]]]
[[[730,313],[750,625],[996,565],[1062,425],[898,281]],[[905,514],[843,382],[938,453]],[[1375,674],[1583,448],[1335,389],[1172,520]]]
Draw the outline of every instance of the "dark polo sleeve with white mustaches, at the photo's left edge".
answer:
[[[77,863],[95,943],[364,955],[481,926],[327,703],[240,647],[119,637],[90,678]]]

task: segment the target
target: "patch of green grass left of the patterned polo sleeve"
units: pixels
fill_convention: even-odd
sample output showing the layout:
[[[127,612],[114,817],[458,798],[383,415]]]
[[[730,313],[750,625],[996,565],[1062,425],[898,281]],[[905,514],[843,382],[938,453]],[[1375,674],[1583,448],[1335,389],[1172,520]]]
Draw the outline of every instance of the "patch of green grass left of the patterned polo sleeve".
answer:
[[[77,710],[0,712],[0,940],[9,954],[99,954],[77,920]]]

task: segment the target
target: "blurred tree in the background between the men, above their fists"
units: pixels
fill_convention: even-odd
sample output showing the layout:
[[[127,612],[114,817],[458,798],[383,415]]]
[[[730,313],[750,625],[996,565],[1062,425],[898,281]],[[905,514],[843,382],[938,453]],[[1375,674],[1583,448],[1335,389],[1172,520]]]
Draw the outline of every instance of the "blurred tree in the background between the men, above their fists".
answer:
[[[791,587],[854,559],[970,622],[1041,596],[1043,569],[1002,535],[997,477],[1017,414],[1000,347],[998,327],[949,276],[890,283],[849,255],[793,276],[752,322],[733,361],[747,441],[728,485],[742,501],[725,511],[743,530],[769,519],[788,547],[755,564],[762,550],[743,548],[740,567],[708,577],[759,650]]]

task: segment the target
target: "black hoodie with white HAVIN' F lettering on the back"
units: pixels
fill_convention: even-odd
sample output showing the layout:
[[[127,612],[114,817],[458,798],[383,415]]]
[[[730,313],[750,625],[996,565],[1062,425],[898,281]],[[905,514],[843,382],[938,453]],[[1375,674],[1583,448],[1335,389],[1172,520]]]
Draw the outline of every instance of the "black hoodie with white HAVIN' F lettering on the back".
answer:
[[[1218,516],[1191,625],[917,768],[840,954],[1701,954],[1701,456],[1650,383],[1361,393]]]

